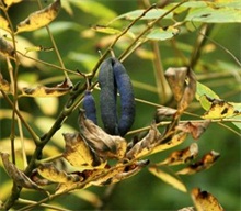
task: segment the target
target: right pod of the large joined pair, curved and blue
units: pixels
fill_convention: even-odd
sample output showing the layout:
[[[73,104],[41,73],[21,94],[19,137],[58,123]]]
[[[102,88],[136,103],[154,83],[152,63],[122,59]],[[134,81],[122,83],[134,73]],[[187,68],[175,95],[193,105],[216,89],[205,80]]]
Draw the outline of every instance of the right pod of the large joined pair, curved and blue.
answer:
[[[114,80],[120,96],[120,118],[118,121],[118,132],[122,136],[124,136],[130,130],[135,120],[136,106],[134,89],[130,78],[123,64],[117,58],[112,59]]]

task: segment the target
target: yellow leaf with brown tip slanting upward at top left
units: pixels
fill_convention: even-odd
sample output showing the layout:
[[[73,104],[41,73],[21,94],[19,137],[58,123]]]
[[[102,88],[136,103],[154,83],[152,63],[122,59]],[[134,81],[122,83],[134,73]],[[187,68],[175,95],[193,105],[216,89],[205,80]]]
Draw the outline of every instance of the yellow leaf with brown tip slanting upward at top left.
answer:
[[[55,0],[48,7],[31,13],[24,21],[16,25],[16,33],[34,31],[48,25],[58,15],[60,8],[60,0]]]

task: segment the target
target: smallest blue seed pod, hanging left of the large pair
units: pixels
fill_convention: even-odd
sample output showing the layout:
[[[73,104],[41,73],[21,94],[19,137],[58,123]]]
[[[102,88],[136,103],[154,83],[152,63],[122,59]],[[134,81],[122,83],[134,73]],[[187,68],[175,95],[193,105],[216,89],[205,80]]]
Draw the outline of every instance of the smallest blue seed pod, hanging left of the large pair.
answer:
[[[91,120],[94,124],[97,125],[95,102],[91,91],[89,90],[87,90],[84,93],[83,109],[85,111],[87,119]]]

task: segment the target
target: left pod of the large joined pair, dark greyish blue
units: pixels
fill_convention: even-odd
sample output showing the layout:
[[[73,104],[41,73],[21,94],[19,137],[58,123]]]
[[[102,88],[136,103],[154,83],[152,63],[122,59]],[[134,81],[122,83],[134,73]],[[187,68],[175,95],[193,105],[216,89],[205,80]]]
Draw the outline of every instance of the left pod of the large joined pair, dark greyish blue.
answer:
[[[113,75],[113,60],[107,58],[100,67],[99,85],[101,119],[106,133],[111,135],[118,134],[117,111],[116,111],[116,85]]]

